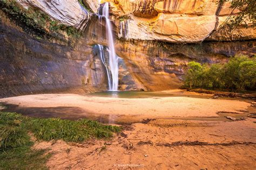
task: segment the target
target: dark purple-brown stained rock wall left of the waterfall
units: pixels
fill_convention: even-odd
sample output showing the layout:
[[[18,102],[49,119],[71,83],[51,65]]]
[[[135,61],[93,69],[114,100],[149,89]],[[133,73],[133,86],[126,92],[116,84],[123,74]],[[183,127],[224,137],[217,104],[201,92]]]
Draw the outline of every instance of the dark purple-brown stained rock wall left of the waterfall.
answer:
[[[0,13],[0,97],[107,90],[104,66],[86,39],[80,38],[75,46],[39,39]]]

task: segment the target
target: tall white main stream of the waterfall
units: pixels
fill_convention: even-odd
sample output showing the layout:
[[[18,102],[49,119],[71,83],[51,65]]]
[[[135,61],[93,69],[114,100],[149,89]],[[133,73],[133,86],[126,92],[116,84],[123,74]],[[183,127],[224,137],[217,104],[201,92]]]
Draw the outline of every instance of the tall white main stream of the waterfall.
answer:
[[[112,26],[109,19],[109,3],[108,2],[106,2],[103,6],[102,16],[105,17],[106,19],[106,34],[107,34],[108,45],[109,45],[109,67],[111,72],[111,76],[108,75],[109,90],[117,91],[118,90],[118,57],[116,55],[116,51],[114,50],[114,40],[113,40],[113,34],[112,34]],[[112,81],[110,80],[110,77],[112,78]]]

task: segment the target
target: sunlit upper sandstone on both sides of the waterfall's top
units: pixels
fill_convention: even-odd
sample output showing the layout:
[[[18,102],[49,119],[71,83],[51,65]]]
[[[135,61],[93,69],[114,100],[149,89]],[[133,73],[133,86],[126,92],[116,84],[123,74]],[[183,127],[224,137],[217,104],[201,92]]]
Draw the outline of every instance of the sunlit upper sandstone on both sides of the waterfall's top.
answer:
[[[80,30],[86,28],[92,16],[77,0],[17,2],[25,7],[39,8],[52,18]],[[83,0],[83,3],[97,13],[98,1]],[[220,29],[231,14],[229,6],[228,2],[219,5],[217,0],[113,0],[111,12],[119,38],[178,43],[255,39],[256,31],[251,23],[248,23],[248,29],[240,26],[232,33]]]

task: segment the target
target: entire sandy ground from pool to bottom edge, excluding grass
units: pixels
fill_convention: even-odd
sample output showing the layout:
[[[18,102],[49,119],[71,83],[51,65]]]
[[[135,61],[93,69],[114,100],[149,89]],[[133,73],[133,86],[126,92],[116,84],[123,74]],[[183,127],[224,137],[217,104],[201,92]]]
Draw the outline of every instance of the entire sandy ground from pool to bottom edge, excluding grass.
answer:
[[[247,117],[255,112],[255,102],[190,95],[38,94],[1,98],[0,102],[9,108],[5,111],[28,116],[122,122],[123,131],[109,140],[35,141],[33,148],[52,154],[46,164],[49,169],[255,169],[255,119]],[[240,117],[231,121],[220,113]],[[216,119],[219,116],[223,118]]]

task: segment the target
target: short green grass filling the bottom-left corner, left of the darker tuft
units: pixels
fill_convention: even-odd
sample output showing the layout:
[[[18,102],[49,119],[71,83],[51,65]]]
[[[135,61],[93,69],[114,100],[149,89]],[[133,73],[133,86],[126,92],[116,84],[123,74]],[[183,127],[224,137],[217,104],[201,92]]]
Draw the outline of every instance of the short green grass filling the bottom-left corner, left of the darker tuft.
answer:
[[[47,169],[50,154],[32,150],[27,120],[19,114],[0,112],[0,169]]]

